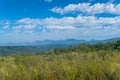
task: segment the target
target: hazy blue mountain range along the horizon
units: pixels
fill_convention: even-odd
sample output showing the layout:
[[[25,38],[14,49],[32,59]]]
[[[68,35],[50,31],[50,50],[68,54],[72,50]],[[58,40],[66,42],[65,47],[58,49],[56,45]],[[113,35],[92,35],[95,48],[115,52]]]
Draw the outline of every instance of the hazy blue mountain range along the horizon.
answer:
[[[0,46],[48,46],[48,45],[63,45],[63,46],[70,46],[70,45],[78,45],[81,43],[89,43],[89,44],[95,44],[95,43],[106,43],[111,42],[114,40],[120,40],[120,37],[118,38],[110,38],[106,40],[76,40],[76,39],[66,39],[66,40],[43,40],[43,41],[35,41],[35,42],[26,42],[26,43],[0,43]]]

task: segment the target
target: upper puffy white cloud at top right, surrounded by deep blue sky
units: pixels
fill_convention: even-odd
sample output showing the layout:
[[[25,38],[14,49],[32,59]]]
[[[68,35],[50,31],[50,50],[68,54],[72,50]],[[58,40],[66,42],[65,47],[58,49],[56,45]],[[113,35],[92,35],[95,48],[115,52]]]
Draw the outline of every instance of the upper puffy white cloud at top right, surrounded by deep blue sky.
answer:
[[[108,13],[108,14],[116,14],[120,15],[120,4],[113,3],[78,3],[78,4],[69,4],[63,8],[54,7],[51,9],[52,12],[67,14],[67,13],[84,13],[88,15]]]

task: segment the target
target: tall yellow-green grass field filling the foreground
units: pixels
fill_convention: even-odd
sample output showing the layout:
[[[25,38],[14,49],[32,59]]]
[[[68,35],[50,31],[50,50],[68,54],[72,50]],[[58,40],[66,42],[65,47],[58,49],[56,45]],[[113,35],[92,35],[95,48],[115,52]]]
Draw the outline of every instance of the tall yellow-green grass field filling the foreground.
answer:
[[[120,52],[4,56],[0,80],[120,80]]]

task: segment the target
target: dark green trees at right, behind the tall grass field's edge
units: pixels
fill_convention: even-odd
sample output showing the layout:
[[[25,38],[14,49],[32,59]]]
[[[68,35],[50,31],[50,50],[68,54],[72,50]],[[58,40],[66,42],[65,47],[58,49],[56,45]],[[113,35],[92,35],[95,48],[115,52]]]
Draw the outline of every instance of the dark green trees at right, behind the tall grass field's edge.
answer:
[[[78,46],[70,46],[69,48],[61,48],[55,49],[54,53],[62,53],[62,52],[94,52],[94,51],[114,51],[120,50],[120,40],[108,42],[108,43],[97,43],[97,44],[86,44],[82,43]]]

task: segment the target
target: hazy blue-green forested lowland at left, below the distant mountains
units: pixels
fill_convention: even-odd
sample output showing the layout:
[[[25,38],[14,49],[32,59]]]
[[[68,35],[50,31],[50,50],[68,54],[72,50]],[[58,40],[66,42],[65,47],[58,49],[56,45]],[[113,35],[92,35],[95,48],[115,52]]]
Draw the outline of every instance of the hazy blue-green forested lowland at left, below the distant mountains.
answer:
[[[65,48],[68,45],[44,45],[44,46],[0,46],[0,56],[11,54],[43,53],[51,49]]]

